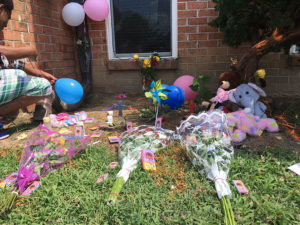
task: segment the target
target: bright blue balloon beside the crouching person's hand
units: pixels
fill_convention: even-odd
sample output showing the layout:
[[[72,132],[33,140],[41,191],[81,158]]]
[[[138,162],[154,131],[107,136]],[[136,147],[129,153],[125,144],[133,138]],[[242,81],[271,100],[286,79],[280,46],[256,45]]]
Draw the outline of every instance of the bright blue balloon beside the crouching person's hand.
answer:
[[[83,96],[81,84],[70,78],[58,79],[55,82],[55,91],[57,96],[67,104],[76,104]]]

